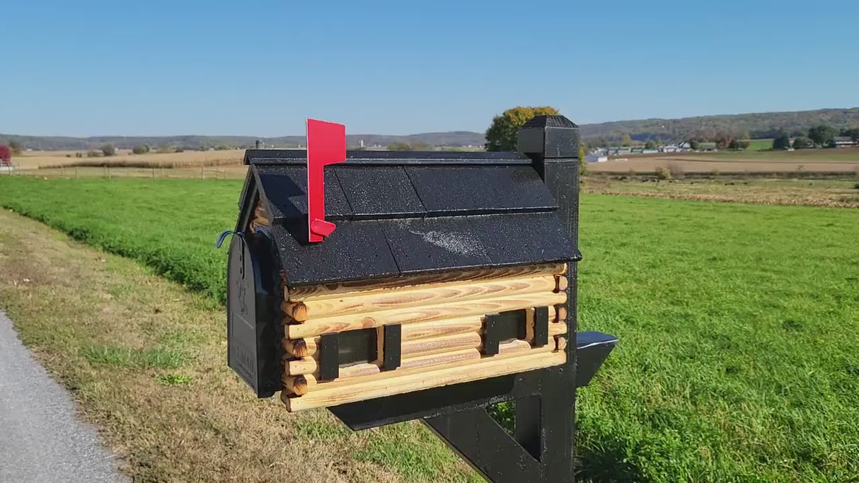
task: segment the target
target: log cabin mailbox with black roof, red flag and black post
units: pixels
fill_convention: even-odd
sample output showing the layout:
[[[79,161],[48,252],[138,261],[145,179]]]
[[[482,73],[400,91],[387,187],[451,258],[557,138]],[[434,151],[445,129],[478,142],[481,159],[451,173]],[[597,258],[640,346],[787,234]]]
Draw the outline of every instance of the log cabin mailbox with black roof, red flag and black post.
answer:
[[[230,367],[353,430],[422,419],[490,480],[572,480],[576,387],[616,339],[576,332],[578,128],[533,118],[519,145],[347,152],[308,120],[307,151],[247,150]]]

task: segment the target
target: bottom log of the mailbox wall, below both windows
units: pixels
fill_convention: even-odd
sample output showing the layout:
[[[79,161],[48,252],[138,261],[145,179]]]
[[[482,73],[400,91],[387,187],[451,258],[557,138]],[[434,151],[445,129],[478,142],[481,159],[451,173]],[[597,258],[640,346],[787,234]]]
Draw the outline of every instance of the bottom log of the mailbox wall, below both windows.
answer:
[[[296,412],[532,371],[566,362],[566,353],[546,351],[545,348],[554,349],[551,345],[546,345],[525,353],[498,354],[480,360],[465,359],[446,365],[443,370],[430,365],[411,370],[383,372],[366,382],[356,381],[332,387],[326,384],[326,387],[311,390],[304,395],[289,395],[287,391],[283,391],[281,399],[289,412]]]

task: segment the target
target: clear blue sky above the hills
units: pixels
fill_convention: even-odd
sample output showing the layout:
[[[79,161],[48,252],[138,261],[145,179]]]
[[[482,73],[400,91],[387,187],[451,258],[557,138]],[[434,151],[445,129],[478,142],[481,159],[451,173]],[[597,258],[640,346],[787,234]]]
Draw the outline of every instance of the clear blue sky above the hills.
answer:
[[[110,2],[3,6],[0,132],[484,131],[859,106],[859,2]]]

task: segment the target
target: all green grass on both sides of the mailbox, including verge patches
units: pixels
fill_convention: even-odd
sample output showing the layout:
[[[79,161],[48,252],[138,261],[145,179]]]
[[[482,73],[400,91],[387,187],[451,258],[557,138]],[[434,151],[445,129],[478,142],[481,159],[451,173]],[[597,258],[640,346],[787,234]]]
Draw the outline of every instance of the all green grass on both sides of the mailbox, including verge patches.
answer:
[[[0,178],[0,205],[222,300],[214,240],[240,188]],[[620,339],[579,392],[583,478],[859,479],[859,211],[600,195],[581,211],[580,329]],[[223,359],[222,345],[199,350]],[[401,468],[436,448],[406,439],[412,427],[383,433],[397,443],[367,461]]]

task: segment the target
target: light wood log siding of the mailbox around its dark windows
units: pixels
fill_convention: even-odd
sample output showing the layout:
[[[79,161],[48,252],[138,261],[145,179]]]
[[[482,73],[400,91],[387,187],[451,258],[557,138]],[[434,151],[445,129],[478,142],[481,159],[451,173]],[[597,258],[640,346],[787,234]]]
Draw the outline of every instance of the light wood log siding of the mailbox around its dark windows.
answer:
[[[265,226],[260,200],[249,228]],[[564,263],[550,263],[291,289],[282,273],[283,402],[295,412],[564,364],[566,271]],[[545,305],[552,307],[550,343],[532,347],[533,307]],[[527,339],[503,342],[496,355],[484,356],[485,315],[521,309],[528,310]],[[398,369],[381,371],[380,353],[319,382],[321,334],[390,323],[402,324]]]

